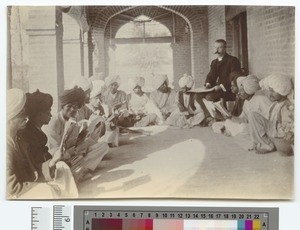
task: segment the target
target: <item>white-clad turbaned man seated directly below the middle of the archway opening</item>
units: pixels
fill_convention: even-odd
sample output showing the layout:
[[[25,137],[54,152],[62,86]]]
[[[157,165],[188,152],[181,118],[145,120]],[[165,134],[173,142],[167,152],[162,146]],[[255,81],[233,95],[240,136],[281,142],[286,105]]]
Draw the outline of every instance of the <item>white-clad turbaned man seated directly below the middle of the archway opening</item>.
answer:
[[[128,85],[132,93],[128,95],[129,113],[132,123],[127,126],[145,127],[160,123],[160,112],[154,103],[143,92],[143,77],[129,78]]]

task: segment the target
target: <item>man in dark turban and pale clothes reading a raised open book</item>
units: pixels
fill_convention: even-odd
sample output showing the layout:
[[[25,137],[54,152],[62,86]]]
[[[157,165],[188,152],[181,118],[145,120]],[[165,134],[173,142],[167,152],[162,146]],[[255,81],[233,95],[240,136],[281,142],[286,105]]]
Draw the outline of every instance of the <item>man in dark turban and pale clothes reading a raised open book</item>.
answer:
[[[48,145],[50,153],[60,148],[64,142],[65,134],[72,123],[76,123],[75,117],[78,109],[85,103],[85,93],[81,88],[74,87],[65,90],[59,97],[61,110],[52,117],[48,127]],[[78,124],[79,125],[79,124]],[[65,149],[65,161],[70,166],[72,173],[77,181],[83,181],[92,176],[101,160],[108,152],[106,143],[99,143],[99,133],[101,126],[84,137],[80,145],[74,143],[70,148]],[[77,140],[75,140],[76,142]]]

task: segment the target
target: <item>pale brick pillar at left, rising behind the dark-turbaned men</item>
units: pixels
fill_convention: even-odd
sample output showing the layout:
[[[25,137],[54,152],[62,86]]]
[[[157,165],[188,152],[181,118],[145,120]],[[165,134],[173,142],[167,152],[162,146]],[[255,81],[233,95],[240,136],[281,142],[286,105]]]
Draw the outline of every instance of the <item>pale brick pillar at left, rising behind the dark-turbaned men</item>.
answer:
[[[55,6],[31,7],[27,29],[29,92],[39,89],[50,93],[54,99],[54,110],[57,108],[58,94],[64,87],[60,17],[61,12]]]

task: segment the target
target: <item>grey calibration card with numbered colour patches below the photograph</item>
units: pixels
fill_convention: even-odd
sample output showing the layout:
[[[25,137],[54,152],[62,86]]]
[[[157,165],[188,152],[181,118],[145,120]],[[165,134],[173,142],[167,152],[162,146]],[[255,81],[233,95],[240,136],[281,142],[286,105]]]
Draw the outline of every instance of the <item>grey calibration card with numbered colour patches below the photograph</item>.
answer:
[[[74,207],[74,230],[278,230],[278,208]]]

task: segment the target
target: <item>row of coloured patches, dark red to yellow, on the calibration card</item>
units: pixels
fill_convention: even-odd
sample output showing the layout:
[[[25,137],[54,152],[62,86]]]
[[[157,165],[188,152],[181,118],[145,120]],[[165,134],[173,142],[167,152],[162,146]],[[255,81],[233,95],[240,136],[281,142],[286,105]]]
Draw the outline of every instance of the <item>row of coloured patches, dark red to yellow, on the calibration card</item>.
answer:
[[[92,219],[92,230],[261,230],[260,220]]]

